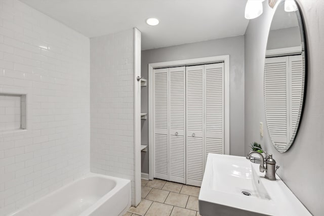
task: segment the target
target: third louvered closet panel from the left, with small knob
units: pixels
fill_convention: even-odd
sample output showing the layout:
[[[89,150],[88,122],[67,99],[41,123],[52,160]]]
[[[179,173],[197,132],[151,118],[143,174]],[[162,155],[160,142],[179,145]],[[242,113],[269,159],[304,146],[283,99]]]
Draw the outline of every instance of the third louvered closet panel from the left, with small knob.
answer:
[[[204,65],[186,67],[186,184],[200,186],[204,161]]]

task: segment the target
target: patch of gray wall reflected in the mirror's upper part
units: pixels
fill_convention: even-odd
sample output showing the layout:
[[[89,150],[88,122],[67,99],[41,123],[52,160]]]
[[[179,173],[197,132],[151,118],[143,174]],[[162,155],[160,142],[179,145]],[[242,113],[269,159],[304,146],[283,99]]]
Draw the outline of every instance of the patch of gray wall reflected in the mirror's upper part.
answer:
[[[299,27],[281,28],[269,32],[267,50],[300,46]]]

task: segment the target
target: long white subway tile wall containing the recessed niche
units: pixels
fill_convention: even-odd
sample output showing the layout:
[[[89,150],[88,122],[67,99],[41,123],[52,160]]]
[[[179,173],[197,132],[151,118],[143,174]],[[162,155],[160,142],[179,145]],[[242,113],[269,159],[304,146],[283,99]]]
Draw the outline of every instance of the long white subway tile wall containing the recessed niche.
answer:
[[[27,94],[27,130],[0,132],[0,215],[90,170],[89,38],[0,0],[0,93],[15,92]]]

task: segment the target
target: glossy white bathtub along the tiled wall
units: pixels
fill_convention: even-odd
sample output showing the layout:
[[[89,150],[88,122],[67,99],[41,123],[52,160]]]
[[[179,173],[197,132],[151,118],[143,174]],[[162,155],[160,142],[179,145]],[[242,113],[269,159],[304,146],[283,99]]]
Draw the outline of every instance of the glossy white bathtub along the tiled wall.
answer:
[[[90,173],[11,216],[118,216],[131,206],[131,182]]]

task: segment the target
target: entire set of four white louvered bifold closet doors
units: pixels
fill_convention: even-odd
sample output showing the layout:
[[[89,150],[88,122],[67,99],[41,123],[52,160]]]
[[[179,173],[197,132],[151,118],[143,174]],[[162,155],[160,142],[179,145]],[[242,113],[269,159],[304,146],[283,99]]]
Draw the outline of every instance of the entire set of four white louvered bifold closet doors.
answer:
[[[224,154],[224,63],[153,70],[154,178],[200,186]]]

